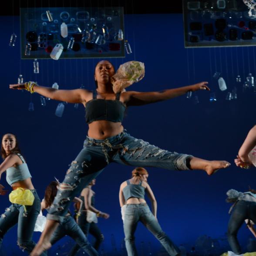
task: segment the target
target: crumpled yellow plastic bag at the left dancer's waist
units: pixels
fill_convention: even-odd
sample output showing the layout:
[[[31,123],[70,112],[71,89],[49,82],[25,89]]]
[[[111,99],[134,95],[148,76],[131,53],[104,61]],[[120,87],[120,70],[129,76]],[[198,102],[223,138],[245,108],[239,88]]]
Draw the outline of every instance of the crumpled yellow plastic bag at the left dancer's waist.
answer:
[[[29,189],[17,188],[9,195],[9,200],[13,204],[19,205],[33,205],[34,195]]]

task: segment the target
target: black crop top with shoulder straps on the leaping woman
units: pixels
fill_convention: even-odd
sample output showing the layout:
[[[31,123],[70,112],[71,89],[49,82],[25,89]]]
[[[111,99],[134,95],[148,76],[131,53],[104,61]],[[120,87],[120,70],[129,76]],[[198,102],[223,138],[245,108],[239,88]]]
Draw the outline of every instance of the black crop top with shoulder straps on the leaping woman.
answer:
[[[119,99],[120,92],[115,94],[114,101],[97,99],[97,91],[94,90],[92,100],[85,104],[85,121],[88,124],[99,120],[115,123],[123,121],[126,107]]]

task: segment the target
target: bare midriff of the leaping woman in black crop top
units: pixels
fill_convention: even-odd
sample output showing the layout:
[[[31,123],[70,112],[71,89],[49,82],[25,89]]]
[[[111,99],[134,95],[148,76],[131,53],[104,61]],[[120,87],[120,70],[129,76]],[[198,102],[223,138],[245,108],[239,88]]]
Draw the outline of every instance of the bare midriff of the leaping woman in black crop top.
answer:
[[[95,139],[105,139],[118,135],[124,130],[121,122],[115,123],[111,121],[94,121],[89,124],[88,136]]]

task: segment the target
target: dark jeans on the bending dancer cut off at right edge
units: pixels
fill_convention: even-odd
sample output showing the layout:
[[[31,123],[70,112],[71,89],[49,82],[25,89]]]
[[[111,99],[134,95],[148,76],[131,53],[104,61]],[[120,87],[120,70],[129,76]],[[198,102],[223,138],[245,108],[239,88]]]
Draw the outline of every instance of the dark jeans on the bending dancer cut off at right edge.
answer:
[[[237,239],[237,232],[243,225],[245,219],[250,219],[256,223],[256,202],[238,201],[230,216],[227,235],[229,245],[236,254],[242,253]]]

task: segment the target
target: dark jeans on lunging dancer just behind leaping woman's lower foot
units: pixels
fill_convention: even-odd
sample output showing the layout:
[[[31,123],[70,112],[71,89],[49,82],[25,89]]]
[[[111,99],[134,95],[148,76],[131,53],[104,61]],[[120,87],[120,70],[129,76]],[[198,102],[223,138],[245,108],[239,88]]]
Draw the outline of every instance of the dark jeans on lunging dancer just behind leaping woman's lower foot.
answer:
[[[75,242],[84,249],[89,256],[98,256],[98,252],[91,246],[84,232],[77,225],[73,217],[67,216],[54,231],[50,243],[53,245],[64,236],[70,236]],[[80,248],[79,247],[79,248]]]

